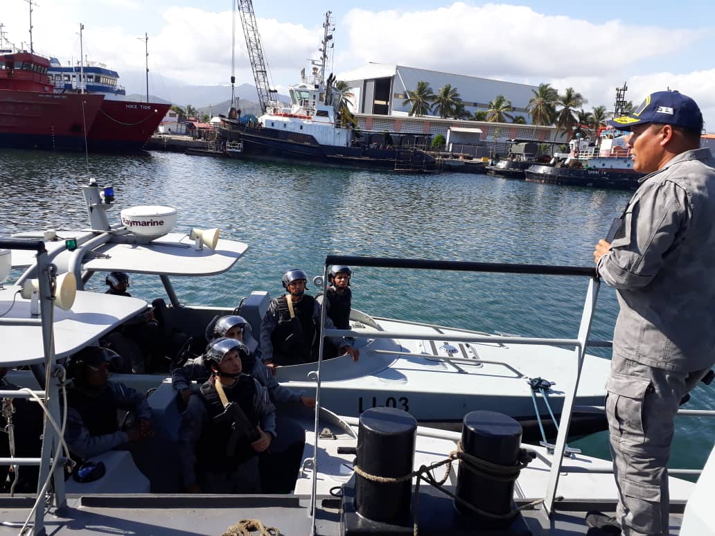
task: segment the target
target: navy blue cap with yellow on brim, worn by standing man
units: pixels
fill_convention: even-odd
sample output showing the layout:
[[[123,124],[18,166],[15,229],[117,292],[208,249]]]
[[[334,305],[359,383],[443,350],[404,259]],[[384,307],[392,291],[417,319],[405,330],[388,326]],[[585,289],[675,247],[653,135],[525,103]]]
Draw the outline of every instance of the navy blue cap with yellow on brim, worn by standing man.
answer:
[[[703,114],[696,102],[679,91],[656,91],[646,96],[630,114],[608,121],[618,130],[631,130],[636,124],[662,123],[701,131]]]

